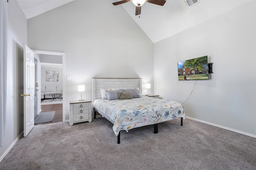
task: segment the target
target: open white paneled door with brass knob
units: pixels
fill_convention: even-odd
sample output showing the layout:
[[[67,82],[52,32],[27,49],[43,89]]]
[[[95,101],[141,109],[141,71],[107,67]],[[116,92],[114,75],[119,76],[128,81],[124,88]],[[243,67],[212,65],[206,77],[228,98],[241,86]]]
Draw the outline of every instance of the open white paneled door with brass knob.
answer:
[[[34,52],[24,46],[24,137],[34,127]]]

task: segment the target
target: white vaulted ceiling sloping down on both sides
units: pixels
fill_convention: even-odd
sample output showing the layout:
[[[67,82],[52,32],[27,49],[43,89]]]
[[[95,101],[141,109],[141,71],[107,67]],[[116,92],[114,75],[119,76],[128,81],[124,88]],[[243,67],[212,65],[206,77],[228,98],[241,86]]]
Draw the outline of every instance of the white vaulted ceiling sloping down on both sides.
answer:
[[[72,2],[73,0],[16,0],[27,19]],[[109,3],[118,0],[104,0]],[[135,16],[135,5],[127,2],[115,6],[123,8],[153,43],[228,12],[251,0],[199,0],[188,7],[185,0],[166,0],[164,6],[145,3],[141,14]],[[100,3],[100,0],[99,0]]]

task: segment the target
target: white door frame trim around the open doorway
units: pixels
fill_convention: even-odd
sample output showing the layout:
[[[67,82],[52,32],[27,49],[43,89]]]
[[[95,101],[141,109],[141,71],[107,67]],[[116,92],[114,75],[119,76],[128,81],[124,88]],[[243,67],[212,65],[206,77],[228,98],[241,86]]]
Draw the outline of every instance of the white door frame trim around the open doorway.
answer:
[[[51,51],[38,51],[38,50],[32,50],[35,54],[46,54],[46,55],[58,55],[62,56],[62,84],[63,84],[63,104],[62,104],[62,122],[66,121],[66,84],[65,84],[65,53],[58,53],[58,52],[51,52]]]

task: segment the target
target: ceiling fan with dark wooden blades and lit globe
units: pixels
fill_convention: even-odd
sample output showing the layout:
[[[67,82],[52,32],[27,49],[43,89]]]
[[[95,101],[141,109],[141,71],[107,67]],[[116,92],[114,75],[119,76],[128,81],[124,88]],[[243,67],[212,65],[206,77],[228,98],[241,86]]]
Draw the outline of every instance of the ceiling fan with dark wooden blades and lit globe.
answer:
[[[141,6],[145,2],[149,2],[151,4],[156,4],[156,5],[160,5],[160,6],[164,6],[164,3],[166,2],[166,0],[121,0],[121,1],[118,1],[118,2],[114,2],[112,4],[113,5],[120,5],[120,4],[124,4],[126,2],[130,2],[130,1],[132,1],[132,3],[136,6],[135,15],[140,15]]]

